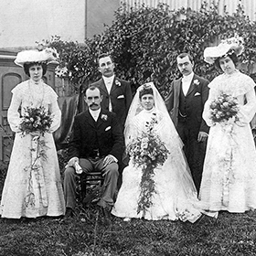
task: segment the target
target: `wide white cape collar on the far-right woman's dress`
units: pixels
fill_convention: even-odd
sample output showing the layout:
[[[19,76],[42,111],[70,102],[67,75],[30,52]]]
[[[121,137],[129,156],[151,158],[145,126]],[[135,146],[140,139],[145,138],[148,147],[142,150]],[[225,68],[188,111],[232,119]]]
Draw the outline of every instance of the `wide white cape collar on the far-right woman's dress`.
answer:
[[[246,94],[248,91],[253,90],[254,86],[254,81],[239,70],[231,75],[219,75],[219,77],[208,84],[210,89],[214,91],[226,91],[233,97]]]

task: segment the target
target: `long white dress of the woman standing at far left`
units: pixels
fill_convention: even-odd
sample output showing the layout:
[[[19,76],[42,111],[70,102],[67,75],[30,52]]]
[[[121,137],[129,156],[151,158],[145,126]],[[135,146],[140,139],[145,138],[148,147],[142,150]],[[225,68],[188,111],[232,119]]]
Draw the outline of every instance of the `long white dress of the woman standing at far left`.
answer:
[[[58,95],[41,80],[24,81],[12,91],[8,109],[8,122],[16,133],[2,193],[0,215],[19,219],[39,216],[60,216],[65,213],[65,203],[59,174],[59,162],[52,133],[59,128],[61,112]],[[26,107],[44,106],[52,114],[50,133],[37,137],[22,135],[19,130],[21,114]],[[44,145],[43,145],[44,144]],[[44,151],[45,157],[37,157]],[[34,163],[35,162],[35,163]],[[33,165],[34,164],[34,165]],[[31,166],[36,168],[31,168]]]

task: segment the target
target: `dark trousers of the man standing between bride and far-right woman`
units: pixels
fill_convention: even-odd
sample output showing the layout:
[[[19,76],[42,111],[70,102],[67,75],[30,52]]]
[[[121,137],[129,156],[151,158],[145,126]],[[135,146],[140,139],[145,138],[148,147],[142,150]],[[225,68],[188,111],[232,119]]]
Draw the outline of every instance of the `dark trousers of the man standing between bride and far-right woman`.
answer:
[[[193,181],[199,192],[202,180],[207,142],[197,142],[199,128],[187,128],[186,122],[177,123],[177,132],[184,143],[184,153]]]

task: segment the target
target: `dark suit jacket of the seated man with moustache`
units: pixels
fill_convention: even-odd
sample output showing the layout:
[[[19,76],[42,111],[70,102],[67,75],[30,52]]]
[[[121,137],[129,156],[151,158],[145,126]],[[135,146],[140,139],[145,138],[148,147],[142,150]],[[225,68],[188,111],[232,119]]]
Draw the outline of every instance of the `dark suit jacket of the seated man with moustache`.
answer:
[[[119,161],[124,150],[123,133],[112,112],[101,110],[97,122],[89,111],[75,116],[73,136],[69,143],[69,158],[113,155]]]

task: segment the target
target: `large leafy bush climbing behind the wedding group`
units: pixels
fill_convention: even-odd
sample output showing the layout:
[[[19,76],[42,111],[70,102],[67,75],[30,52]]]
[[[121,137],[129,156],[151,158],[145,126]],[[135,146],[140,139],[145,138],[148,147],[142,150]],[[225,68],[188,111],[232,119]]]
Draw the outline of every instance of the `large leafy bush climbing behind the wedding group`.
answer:
[[[53,37],[48,45],[58,49],[61,66],[67,67],[67,77],[77,88],[85,81],[99,79],[97,56],[110,52],[119,77],[131,80],[135,86],[153,80],[165,96],[171,81],[180,75],[176,68],[179,53],[189,52],[195,60],[195,72],[212,80],[219,71],[204,62],[203,51],[234,32],[245,39],[242,67],[251,74],[256,58],[255,31],[255,22],[245,16],[241,5],[235,14],[224,16],[219,15],[218,5],[208,8],[206,3],[199,11],[181,8],[175,12],[165,4],[130,10],[123,5],[102,35],[86,39],[83,45]]]

